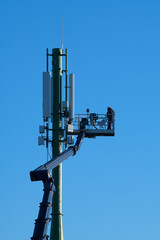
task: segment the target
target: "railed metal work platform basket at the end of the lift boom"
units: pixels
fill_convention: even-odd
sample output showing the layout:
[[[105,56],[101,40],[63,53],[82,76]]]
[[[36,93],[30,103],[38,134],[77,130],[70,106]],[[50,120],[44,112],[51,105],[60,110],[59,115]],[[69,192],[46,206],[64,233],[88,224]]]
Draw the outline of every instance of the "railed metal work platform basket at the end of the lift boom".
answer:
[[[82,118],[88,120],[85,129],[85,137],[94,138],[96,136],[114,136],[115,119],[112,115],[112,121],[108,120],[106,114],[75,114],[72,124],[67,125],[67,135],[78,135],[80,133],[80,122]]]

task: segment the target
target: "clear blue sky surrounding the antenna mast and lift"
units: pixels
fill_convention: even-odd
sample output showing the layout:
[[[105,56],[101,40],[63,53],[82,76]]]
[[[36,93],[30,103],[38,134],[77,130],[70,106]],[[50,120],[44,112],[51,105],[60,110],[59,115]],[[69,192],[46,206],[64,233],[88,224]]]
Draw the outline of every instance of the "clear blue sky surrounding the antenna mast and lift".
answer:
[[[85,139],[63,164],[65,239],[160,238],[160,2],[1,1],[1,238],[29,239],[46,161],[42,123],[45,51],[69,52],[76,113],[116,112],[114,138]]]

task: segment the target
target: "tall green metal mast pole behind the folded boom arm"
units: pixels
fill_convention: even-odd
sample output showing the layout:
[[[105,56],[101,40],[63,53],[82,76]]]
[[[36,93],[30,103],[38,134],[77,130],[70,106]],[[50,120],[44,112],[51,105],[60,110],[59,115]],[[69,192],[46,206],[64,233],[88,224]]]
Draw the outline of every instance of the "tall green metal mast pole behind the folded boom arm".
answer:
[[[62,152],[62,49],[60,48],[52,49],[52,78],[52,157],[56,157]],[[62,164],[57,166],[52,174],[56,191],[53,196],[50,240],[63,240]]]

